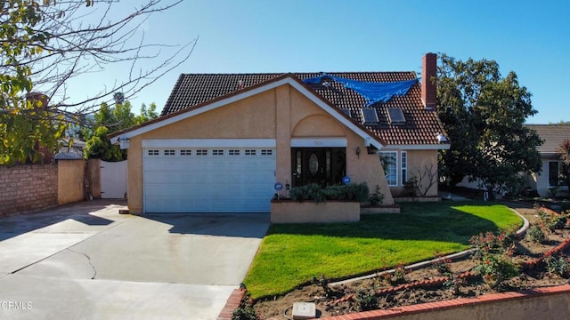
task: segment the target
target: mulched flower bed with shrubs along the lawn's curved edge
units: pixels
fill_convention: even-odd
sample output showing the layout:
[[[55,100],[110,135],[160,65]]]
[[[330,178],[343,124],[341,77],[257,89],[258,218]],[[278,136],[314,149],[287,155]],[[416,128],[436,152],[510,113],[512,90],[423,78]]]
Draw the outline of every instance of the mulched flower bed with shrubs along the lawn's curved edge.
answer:
[[[534,219],[533,225],[546,225],[548,223],[544,221],[550,219],[534,218],[536,212],[530,210],[526,216]],[[505,235],[475,236],[472,239],[473,252],[478,251],[479,256],[441,260],[441,263],[413,271],[400,267],[348,284],[332,286],[321,281],[327,283],[327,291],[323,291],[322,285],[307,285],[276,300],[257,301],[256,312],[261,318],[279,319],[293,302],[314,301],[322,317],[326,317],[566,284],[570,276],[570,260],[567,258],[570,229],[565,226],[546,232],[548,239],[543,244]],[[512,246],[510,240],[516,245]],[[509,263],[505,264],[505,261]],[[502,273],[509,273],[513,266],[519,270],[517,275],[503,276]]]

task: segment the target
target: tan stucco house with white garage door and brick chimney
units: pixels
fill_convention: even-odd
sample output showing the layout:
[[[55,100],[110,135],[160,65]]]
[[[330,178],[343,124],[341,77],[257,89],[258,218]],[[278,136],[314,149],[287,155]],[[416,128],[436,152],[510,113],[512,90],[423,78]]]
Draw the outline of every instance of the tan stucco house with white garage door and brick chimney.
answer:
[[[158,119],[110,135],[128,148],[129,211],[269,212],[278,182],[286,196],[345,177],[394,204],[449,148],[436,59],[423,57],[421,83],[413,71],[183,74]]]

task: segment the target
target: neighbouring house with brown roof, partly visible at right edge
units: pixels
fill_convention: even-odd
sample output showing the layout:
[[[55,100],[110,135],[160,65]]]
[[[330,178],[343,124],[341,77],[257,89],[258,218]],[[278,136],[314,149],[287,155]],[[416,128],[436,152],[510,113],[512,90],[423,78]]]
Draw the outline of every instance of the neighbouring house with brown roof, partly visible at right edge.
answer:
[[[542,157],[542,172],[533,172],[528,176],[530,188],[536,189],[540,196],[550,196],[549,189],[556,189],[558,195],[566,193],[568,186],[562,179],[562,161],[558,148],[565,140],[570,139],[570,124],[525,124],[533,129],[543,140],[537,149]]]

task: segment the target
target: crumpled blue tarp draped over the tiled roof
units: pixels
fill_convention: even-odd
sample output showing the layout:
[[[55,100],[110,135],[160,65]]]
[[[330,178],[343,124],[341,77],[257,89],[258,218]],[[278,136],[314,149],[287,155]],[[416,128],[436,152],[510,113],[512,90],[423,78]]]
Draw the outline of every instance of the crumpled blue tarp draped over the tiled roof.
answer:
[[[403,96],[410,90],[411,85],[418,81],[418,79],[413,79],[395,83],[371,83],[322,74],[322,76],[307,78],[303,82],[305,82],[305,84],[320,84],[325,77],[329,77],[343,84],[347,89],[358,92],[366,100],[366,106],[371,106],[379,101],[386,102],[394,96]]]

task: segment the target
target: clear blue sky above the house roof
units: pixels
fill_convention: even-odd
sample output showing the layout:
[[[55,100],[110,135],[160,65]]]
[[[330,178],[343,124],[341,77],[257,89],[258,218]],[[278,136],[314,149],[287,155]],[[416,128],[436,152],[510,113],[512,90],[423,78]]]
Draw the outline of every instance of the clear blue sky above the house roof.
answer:
[[[570,121],[569,14],[565,0],[185,0],[151,16],[144,30],[151,43],[199,36],[190,60],[131,102],[138,110],[154,101],[161,110],[181,73],[420,72],[424,53],[445,52],[496,60],[503,76],[515,71],[539,111],[527,123]],[[97,79],[120,82],[120,71],[108,69]],[[72,97],[93,90],[73,88]]]

